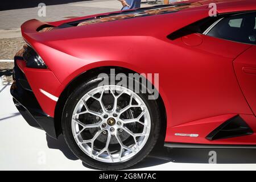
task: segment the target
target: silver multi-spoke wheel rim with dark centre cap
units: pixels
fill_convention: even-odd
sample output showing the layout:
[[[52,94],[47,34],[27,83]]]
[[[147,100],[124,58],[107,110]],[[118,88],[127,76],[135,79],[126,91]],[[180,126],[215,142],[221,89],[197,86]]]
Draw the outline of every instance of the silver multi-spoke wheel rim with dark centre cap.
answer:
[[[71,125],[73,137],[86,155],[116,163],[142,150],[151,119],[138,94],[122,86],[105,85],[90,90],[77,102]]]

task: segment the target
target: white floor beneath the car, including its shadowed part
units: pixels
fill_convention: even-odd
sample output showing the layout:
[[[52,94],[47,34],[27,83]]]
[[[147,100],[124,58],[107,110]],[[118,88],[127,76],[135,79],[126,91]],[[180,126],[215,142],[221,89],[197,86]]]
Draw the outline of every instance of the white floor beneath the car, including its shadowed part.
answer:
[[[10,85],[0,85],[0,170],[92,170],[72,154],[63,136],[55,140],[28,126],[9,90]],[[212,150],[158,148],[130,170],[256,169],[256,150],[214,150],[219,164],[208,164]]]

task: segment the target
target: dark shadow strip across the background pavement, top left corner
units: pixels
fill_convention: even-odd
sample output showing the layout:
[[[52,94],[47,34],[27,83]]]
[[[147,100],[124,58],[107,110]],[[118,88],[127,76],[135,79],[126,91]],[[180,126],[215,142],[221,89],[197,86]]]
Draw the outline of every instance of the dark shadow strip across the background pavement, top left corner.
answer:
[[[20,0],[9,0],[2,1],[0,6],[0,11],[3,10],[15,10],[23,9],[29,7],[38,7],[39,3],[45,3],[48,5],[63,5],[66,3],[72,2],[81,2],[81,1],[93,1],[93,0],[33,0],[33,1],[20,1]]]

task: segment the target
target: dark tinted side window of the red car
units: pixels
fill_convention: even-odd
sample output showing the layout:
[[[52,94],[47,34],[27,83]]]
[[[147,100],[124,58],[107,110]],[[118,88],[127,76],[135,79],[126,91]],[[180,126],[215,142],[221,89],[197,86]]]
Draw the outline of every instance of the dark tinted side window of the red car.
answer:
[[[222,18],[206,35],[235,42],[256,44],[256,13]]]

